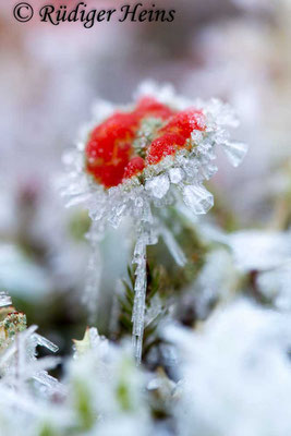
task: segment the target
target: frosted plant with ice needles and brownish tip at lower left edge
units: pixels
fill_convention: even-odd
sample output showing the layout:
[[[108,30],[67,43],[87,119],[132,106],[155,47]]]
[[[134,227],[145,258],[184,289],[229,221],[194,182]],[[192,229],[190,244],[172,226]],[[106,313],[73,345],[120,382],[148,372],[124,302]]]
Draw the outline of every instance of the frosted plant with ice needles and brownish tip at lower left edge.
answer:
[[[1,432],[7,435],[35,434],[31,429],[48,415],[47,402],[63,396],[62,385],[48,374],[59,359],[37,359],[37,347],[56,352],[58,347],[26,326],[26,316],[16,312],[1,293],[0,308],[0,405]],[[15,415],[17,419],[15,420]],[[14,426],[17,422],[19,427]],[[26,432],[26,433],[25,433]]]

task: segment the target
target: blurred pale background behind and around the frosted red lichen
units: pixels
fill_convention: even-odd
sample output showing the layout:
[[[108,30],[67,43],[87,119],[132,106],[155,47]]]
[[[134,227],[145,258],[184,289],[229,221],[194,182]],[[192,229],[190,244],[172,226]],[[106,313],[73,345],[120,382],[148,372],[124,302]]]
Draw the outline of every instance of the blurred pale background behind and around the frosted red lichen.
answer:
[[[89,4],[107,9],[122,2]],[[290,0],[155,4],[175,9],[175,20],[112,20],[85,29],[36,16],[17,23],[13,4],[1,2],[0,289],[61,348],[86,323],[80,295],[88,218],[64,208],[53,181],[96,98],[128,102],[141,81],[153,78],[171,82],[189,97],[229,101],[241,120],[237,138],[250,144],[250,153],[235,170],[219,158],[210,189],[240,228],[287,226],[281,198],[291,183]],[[114,232],[104,242],[104,295],[111,295],[128,262],[116,253],[121,242]]]

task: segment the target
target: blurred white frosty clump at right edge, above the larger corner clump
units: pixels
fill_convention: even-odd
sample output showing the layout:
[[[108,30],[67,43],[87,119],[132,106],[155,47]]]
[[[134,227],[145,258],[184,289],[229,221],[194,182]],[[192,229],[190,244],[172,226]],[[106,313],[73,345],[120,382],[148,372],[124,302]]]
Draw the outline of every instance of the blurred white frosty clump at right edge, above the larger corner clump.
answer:
[[[222,269],[223,277],[233,277],[233,290],[241,291],[240,277],[250,283],[257,296],[265,303],[272,304],[281,311],[290,311],[291,308],[291,232],[278,230],[257,230],[246,229],[230,233],[225,233],[221,229],[213,226],[199,226],[199,234],[203,235],[208,243],[221,244],[223,251],[228,251],[231,259],[228,268]],[[221,250],[221,249],[220,249]],[[209,255],[208,255],[209,256]],[[207,290],[207,287],[215,289],[216,296],[219,289],[219,280],[217,280],[218,266],[222,262],[222,256],[217,258],[215,268],[204,274],[205,280],[203,287],[199,287],[199,298]],[[237,277],[237,279],[235,279]],[[214,281],[216,279],[216,286]],[[199,284],[201,277],[197,278],[195,287]],[[213,286],[211,286],[213,283]],[[228,289],[227,281],[223,282],[221,290],[226,292]],[[250,291],[250,289],[248,289]]]

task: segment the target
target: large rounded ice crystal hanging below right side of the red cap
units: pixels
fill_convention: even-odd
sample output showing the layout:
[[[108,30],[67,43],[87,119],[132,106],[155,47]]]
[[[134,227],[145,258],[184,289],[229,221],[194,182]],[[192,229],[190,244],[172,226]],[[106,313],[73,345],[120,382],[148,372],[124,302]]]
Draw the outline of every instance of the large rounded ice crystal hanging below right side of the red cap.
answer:
[[[194,214],[203,215],[214,206],[214,196],[203,185],[184,186],[183,199]]]

